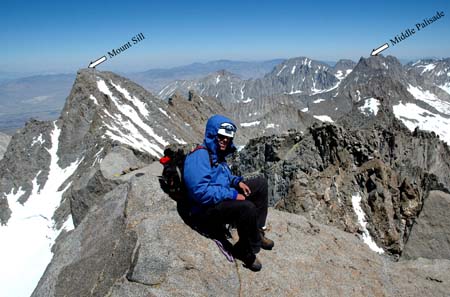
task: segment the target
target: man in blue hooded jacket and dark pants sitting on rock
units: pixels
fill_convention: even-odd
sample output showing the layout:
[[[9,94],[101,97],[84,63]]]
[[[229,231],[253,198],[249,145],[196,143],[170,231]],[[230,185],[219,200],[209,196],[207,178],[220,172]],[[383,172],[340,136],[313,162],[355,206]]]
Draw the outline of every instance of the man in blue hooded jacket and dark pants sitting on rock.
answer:
[[[236,147],[233,138],[236,125],[228,118],[215,115],[207,124],[202,146],[189,154],[184,163],[184,181],[193,207],[192,215],[213,226],[236,226],[239,241],[232,249],[253,271],[262,268],[256,254],[260,248],[270,250],[272,240],[264,236],[267,217],[267,180],[246,180],[234,176],[225,158]]]

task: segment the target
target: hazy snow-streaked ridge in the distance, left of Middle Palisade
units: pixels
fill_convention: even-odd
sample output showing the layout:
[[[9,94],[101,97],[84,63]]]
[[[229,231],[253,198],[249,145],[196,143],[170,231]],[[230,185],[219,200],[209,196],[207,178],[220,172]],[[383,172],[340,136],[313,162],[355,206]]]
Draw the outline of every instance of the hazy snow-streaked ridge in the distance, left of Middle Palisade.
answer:
[[[255,98],[275,94],[317,94],[335,88],[354,65],[339,61],[334,67],[305,57],[292,58],[274,67],[260,79],[242,80],[227,71],[218,71],[202,79],[176,81],[158,92],[168,98],[175,92],[187,94],[194,90],[200,95],[217,98],[225,106],[251,102]]]

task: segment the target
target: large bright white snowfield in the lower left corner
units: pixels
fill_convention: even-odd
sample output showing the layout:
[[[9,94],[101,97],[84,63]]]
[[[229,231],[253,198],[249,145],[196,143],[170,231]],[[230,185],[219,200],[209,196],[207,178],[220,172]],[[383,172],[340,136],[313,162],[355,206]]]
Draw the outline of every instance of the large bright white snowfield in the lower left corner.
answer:
[[[71,217],[61,229],[56,229],[52,216],[61,204],[63,193],[58,188],[77,169],[80,161],[75,161],[66,168],[58,165],[57,155],[61,130],[54,123],[50,134],[50,166],[47,181],[38,189],[38,172],[32,181],[33,189],[24,205],[17,200],[25,194],[22,187],[14,194],[6,194],[12,214],[6,227],[0,227],[0,296],[30,296],[52,259],[51,246],[62,229],[73,229]]]

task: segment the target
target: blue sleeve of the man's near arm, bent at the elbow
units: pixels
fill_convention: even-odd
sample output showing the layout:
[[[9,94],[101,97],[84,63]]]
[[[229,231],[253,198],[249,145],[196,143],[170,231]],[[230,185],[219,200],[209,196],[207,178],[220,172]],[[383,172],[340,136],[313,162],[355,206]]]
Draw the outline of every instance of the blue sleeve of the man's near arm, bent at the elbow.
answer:
[[[211,164],[206,150],[197,150],[184,162],[184,182],[191,198],[204,205],[217,204],[225,199],[236,200],[238,192],[226,185],[211,181]]]

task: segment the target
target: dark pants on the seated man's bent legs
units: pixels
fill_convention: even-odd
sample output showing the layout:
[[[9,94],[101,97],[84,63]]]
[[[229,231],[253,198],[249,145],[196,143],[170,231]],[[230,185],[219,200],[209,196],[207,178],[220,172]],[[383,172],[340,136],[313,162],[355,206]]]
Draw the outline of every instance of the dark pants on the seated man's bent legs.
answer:
[[[239,249],[244,254],[256,254],[261,247],[259,229],[266,224],[268,207],[267,180],[257,177],[244,181],[251,190],[246,200],[224,200],[209,206],[198,214],[202,225],[221,230],[225,224],[237,228],[239,234]],[[242,193],[242,191],[240,190]],[[222,229],[223,230],[223,229]],[[220,232],[220,231],[219,231]]]

